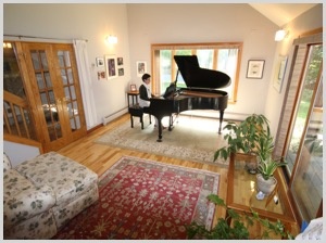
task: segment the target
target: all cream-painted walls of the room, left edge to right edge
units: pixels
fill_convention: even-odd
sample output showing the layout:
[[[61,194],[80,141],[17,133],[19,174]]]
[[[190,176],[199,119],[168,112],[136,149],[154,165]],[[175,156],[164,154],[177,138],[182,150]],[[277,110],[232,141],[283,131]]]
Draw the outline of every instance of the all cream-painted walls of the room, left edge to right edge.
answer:
[[[90,66],[98,124],[102,117],[127,105],[125,91],[130,81],[140,84],[136,62],[147,61],[149,72],[151,43],[242,41],[238,101],[227,113],[263,113],[273,131],[278,125],[284,99],[273,89],[274,60],[289,54],[292,38],[305,30],[323,26],[322,4],[289,23],[293,29],[286,41],[274,41],[278,27],[249,4],[3,4],[3,33],[88,39],[92,64],[97,56],[116,54],[124,57],[125,75],[111,80],[97,80],[103,68]],[[109,46],[106,35],[116,35],[118,42]],[[24,40],[24,39],[23,39]],[[29,39],[30,40],[30,39]],[[36,41],[32,39],[32,41]],[[289,56],[290,57],[290,56]],[[248,60],[265,60],[262,79],[247,79]],[[290,59],[288,66],[290,64]],[[286,78],[287,78],[286,73]],[[285,78],[285,79],[286,79]]]

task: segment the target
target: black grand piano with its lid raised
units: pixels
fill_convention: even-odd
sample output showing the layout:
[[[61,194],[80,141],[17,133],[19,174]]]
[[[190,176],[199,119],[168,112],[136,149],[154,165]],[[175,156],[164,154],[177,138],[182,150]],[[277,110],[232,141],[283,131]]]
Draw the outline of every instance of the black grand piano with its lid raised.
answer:
[[[179,114],[189,110],[216,110],[220,111],[221,133],[224,110],[227,107],[228,94],[217,90],[230,85],[230,77],[222,72],[201,68],[197,55],[175,55],[178,66],[175,80],[175,93],[170,99],[152,98],[147,108],[149,114],[155,116],[159,122],[159,139],[162,142],[162,118],[170,116],[168,130],[172,130],[173,114]],[[187,85],[187,88],[177,88],[178,74]]]

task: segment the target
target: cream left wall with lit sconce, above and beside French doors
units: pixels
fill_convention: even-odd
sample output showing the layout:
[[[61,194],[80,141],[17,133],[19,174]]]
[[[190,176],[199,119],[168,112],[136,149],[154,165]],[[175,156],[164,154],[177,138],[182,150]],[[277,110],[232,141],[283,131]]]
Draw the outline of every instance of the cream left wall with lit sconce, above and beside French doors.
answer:
[[[87,39],[91,62],[92,90],[98,124],[102,117],[127,106],[126,89],[130,79],[127,11],[125,4],[3,4],[3,34],[47,38]],[[118,42],[105,43],[108,35],[116,35]],[[12,39],[12,38],[7,38]],[[39,39],[22,39],[38,41]],[[45,41],[45,40],[41,40]],[[48,40],[49,41],[49,40]],[[58,42],[58,40],[53,40]],[[72,41],[61,41],[72,42]],[[96,57],[115,54],[124,59],[125,75],[98,80]]]

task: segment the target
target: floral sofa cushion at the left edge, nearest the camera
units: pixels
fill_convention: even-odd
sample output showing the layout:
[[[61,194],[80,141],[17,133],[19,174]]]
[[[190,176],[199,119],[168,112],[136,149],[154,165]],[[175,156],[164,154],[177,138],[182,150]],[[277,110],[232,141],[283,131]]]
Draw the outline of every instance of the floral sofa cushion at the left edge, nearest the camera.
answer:
[[[4,229],[47,212],[54,204],[55,196],[50,187],[35,187],[14,169],[3,172]]]

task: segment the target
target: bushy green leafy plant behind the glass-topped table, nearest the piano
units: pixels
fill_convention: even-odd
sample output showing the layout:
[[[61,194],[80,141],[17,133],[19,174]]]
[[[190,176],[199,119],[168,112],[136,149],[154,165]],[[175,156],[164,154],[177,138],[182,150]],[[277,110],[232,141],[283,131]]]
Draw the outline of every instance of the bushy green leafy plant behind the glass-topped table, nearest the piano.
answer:
[[[262,114],[252,114],[240,124],[228,123],[223,130],[228,131],[224,136],[227,145],[215,151],[214,161],[218,157],[226,161],[231,153],[246,154],[249,155],[243,159],[247,162],[247,168],[254,174],[256,168],[256,144],[265,132],[269,133],[268,119]]]

